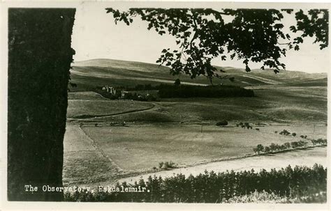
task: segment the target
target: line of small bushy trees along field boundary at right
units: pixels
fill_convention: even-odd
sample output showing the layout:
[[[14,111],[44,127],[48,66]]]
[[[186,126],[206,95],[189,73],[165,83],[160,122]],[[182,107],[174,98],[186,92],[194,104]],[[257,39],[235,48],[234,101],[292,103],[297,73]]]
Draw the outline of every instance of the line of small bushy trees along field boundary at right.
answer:
[[[278,143],[271,143],[270,146],[263,146],[262,144],[258,144],[255,148],[253,148],[253,152],[260,154],[260,153],[272,153],[281,150],[288,150],[291,148],[300,148],[307,146],[307,141],[292,141],[286,142],[284,144],[279,145]]]

